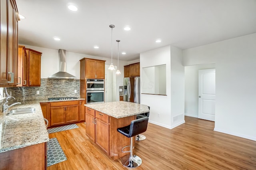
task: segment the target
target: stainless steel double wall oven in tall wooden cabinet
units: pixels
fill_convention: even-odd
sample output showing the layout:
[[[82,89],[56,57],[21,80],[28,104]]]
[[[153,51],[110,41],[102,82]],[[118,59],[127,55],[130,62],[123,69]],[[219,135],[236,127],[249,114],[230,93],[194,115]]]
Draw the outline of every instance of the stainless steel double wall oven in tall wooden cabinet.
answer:
[[[86,103],[104,102],[104,79],[86,79]]]

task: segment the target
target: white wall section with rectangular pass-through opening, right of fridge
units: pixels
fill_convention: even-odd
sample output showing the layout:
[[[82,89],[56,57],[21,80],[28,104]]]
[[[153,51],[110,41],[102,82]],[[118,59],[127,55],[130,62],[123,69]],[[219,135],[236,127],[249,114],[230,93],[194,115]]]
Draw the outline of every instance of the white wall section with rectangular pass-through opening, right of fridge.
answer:
[[[173,70],[171,69],[171,62],[177,64],[173,65]],[[142,73],[143,67],[151,67],[155,65],[164,65],[166,64],[166,95],[140,95],[140,103],[150,106],[150,117],[149,122],[156,125],[160,125],[166,128],[174,128],[175,126],[184,123],[184,67],[182,65],[182,51],[176,47],[170,45],[161,47],[158,49],[153,49],[140,53],[140,72]],[[183,76],[182,76],[183,68]],[[173,88],[171,86],[171,73],[173,72],[174,81]],[[181,77],[176,77],[180,75]],[[183,79],[183,80],[182,80]],[[143,75],[140,77],[140,81],[143,84]],[[182,83],[180,85],[180,83]],[[183,86],[183,87],[182,87]],[[176,88],[176,89],[175,89]],[[183,88],[183,89],[182,89]],[[141,87],[142,91],[142,87]],[[173,91],[173,94],[172,94]],[[171,97],[174,97],[174,100],[177,99],[177,107],[172,108],[172,104],[176,102],[171,102]],[[182,101],[183,98],[183,101]],[[183,111],[182,111],[183,108]],[[172,113],[173,111],[173,113]],[[177,114],[182,114],[183,119],[178,120],[175,124],[172,122],[172,114],[176,116]]]

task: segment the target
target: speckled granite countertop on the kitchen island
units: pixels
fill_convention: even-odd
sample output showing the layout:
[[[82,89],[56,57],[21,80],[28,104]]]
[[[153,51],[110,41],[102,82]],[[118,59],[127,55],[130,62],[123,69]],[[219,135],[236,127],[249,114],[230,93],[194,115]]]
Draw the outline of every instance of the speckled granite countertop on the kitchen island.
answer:
[[[149,112],[147,105],[131,103],[126,101],[90,103],[85,104],[85,106],[90,107],[91,109],[94,109],[106,115],[112,116],[114,118],[128,117]]]

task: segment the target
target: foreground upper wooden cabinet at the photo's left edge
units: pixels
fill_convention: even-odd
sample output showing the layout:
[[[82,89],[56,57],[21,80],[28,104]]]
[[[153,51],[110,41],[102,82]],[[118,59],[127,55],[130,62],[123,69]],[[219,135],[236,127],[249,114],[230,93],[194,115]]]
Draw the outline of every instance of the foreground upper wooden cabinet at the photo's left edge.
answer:
[[[0,87],[18,84],[18,9],[15,0],[0,1]]]

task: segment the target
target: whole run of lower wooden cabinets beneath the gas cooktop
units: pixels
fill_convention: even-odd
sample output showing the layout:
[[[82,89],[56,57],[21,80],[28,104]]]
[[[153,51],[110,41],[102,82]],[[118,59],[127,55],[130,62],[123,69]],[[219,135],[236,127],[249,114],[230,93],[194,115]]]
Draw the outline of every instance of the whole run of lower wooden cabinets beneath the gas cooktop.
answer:
[[[48,127],[85,121],[84,100],[40,103]]]

